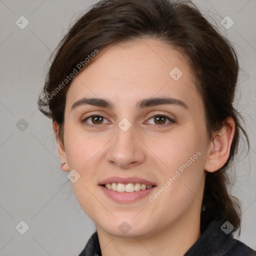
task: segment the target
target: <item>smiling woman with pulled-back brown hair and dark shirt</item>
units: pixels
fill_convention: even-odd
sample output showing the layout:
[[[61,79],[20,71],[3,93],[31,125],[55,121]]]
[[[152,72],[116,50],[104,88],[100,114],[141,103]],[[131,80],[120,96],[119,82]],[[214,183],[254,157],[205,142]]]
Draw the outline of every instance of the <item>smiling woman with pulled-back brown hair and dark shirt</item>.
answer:
[[[55,50],[38,100],[96,232],[82,255],[255,255],[233,238],[236,54],[191,2],[103,0]]]

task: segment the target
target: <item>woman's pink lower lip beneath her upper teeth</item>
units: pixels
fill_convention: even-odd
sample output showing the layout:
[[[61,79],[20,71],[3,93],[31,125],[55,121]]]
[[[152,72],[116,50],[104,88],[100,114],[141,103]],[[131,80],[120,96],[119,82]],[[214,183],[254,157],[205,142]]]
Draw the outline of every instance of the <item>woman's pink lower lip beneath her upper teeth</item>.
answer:
[[[134,192],[117,192],[112,189],[106,188],[102,185],[100,185],[100,187],[102,191],[105,193],[105,195],[108,196],[109,198],[117,202],[126,203],[133,202],[139,198],[145,197],[146,195],[150,194],[156,186]]]

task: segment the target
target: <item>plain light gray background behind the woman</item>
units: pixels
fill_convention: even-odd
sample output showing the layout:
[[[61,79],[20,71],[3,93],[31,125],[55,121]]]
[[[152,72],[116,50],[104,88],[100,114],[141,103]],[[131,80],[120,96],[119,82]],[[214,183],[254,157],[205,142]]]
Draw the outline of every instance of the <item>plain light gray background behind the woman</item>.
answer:
[[[36,106],[49,54],[69,24],[95,2],[0,0],[0,255],[78,255],[95,230],[59,167],[51,121]],[[245,156],[245,146],[236,159],[231,191],[242,202],[239,239],[256,249],[256,1],[194,2],[233,43],[243,70],[236,101],[251,149]],[[29,21],[24,29],[15,24],[21,15]],[[226,15],[234,21],[229,29],[220,23]],[[21,118],[28,124],[23,130]],[[29,226],[24,234],[15,228],[21,220]]]

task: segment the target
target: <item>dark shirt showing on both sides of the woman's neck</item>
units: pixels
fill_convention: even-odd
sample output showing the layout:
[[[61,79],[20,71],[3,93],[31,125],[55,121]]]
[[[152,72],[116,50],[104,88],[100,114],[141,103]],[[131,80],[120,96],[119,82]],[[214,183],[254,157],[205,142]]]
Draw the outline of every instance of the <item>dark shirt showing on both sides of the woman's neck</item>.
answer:
[[[252,256],[256,251],[226,234],[220,227],[223,221],[201,223],[201,235],[183,256]],[[226,227],[226,226],[224,226]],[[101,256],[98,235],[94,232],[78,256]]]

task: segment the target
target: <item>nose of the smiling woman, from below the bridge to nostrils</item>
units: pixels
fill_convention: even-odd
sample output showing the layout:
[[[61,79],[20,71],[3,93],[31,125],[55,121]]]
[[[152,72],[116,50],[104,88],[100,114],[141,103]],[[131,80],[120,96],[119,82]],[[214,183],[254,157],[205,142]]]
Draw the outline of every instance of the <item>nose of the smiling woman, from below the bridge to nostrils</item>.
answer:
[[[115,136],[109,141],[107,161],[123,169],[141,164],[145,160],[146,148],[141,140],[139,134],[134,133],[132,125],[126,131],[117,126]]]

